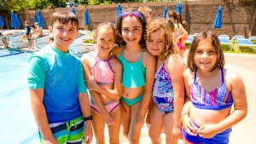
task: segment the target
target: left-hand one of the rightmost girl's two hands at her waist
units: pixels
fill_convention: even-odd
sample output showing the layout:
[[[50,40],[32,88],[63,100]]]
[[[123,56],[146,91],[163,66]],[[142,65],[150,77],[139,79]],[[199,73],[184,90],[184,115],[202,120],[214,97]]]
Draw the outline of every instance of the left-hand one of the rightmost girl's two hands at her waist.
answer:
[[[197,127],[195,124],[190,120],[189,116],[183,118],[183,129],[189,135],[197,135]]]

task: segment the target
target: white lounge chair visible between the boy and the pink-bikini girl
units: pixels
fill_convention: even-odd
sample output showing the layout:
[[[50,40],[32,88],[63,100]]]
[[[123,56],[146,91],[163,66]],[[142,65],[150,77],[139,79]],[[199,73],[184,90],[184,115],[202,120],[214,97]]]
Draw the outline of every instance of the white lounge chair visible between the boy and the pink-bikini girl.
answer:
[[[78,37],[76,37],[76,39],[73,41],[73,43],[69,47],[69,50],[73,54],[83,54],[91,50],[94,50],[95,44],[84,44],[83,38],[84,38],[83,34],[79,35]]]

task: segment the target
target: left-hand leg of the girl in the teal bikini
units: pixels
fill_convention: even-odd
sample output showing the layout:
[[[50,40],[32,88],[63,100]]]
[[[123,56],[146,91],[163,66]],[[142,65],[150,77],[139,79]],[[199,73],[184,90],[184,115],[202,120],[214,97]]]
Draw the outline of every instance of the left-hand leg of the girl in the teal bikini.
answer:
[[[130,123],[131,123],[131,107],[125,104],[124,101],[120,101],[122,103],[121,108],[121,124],[122,131],[125,137],[128,137]]]

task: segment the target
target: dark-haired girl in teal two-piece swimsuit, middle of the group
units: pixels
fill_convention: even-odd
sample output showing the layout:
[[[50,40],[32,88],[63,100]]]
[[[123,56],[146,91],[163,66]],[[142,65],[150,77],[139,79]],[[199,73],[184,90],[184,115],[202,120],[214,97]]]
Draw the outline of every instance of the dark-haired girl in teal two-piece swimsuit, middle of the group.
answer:
[[[130,143],[139,143],[154,84],[155,60],[144,47],[145,26],[145,18],[137,10],[120,14],[117,39],[121,47],[113,49],[123,64],[121,124]]]

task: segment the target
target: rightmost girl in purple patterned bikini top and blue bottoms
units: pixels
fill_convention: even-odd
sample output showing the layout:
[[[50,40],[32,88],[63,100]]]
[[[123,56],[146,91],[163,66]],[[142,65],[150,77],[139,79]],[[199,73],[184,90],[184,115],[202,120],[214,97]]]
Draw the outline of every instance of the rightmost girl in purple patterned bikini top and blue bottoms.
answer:
[[[224,69],[224,53],[215,34],[201,32],[194,38],[188,66],[183,78],[189,97],[180,119],[185,142],[229,143],[231,127],[247,115],[247,97],[240,76]]]

